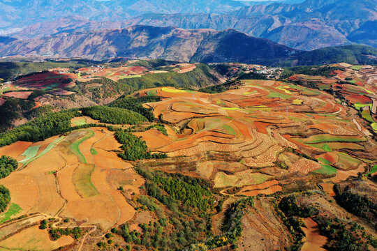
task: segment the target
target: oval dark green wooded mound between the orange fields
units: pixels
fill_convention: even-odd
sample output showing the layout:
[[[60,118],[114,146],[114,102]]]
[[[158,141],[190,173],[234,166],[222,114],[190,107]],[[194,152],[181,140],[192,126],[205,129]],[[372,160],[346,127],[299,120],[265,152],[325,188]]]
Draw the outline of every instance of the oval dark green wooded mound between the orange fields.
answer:
[[[95,106],[82,109],[82,114],[90,116],[91,119],[98,119],[102,123],[130,124],[135,125],[147,121],[145,116],[128,109],[117,107]]]

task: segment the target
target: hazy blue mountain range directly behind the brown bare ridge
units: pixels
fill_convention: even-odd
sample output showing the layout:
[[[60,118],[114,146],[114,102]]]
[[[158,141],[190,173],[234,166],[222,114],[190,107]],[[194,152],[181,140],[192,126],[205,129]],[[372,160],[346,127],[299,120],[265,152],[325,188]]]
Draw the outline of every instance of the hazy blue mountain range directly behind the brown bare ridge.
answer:
[[[64,1],[61,4],[65,5],[66,2],[69,1]],[[150,10],[163,14],[146,13],[128,19],[124,17],[131,17],[135,13],[139,13],[137,11],[131,13],[131,9],[134,10],[137,3],[131,8],[121,5],[120,1],[109,2],[101,2],[102,5],[105,4],[101,16],[96,16],[96,11],[91,11],[91,15],[82,14],[81,17],[64,17],[60,20],[33,24],[8,36],[29,39],[75,31],[122,29],[141,24],[218,31],[237,29],[251,36],[267,38],[298,50],[316,50],[322,47],[352,43],[377,46],[376,0],[306,0],[298,4],[272,3],[253,6],[244,6],[243,3],[237,1],[213,0],[193,1],[190,7],[185,5],[186,1],[172,1],[169,6],[171,8],[168,8],[168,3],[165,5],[164,1],[149,0],[147,5],[145,3],[142,6],[140,13]],[[157,5],[157,2],[161,2],[161,5]],[[80,1],[72,4],[79,3]],[[93,6],[97,4],[100,3]],[[115,8],[117,4],[120,4],[119,8]],[[158,6],[158,8],[151,6]],[[75,10],[82,10],[82,8],[84,7],[75,8]],[[117,10],[111,11],[111,9]],[[128,13],[120,14],[126,10]],[[228,10],[230,11],[226,12]],[[182,14],[182,12],[189,14]],[[69,11],[66,13],[78,14]],[[109,16],[110,13],[112,13],[112,17]],[[59,17],[59,13],[55,17]],[[91,20],[84,17],[89,17]],[[25,17],[25,19],[27,18]],[[98,20],[117,21],[101,22]]]

